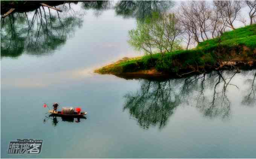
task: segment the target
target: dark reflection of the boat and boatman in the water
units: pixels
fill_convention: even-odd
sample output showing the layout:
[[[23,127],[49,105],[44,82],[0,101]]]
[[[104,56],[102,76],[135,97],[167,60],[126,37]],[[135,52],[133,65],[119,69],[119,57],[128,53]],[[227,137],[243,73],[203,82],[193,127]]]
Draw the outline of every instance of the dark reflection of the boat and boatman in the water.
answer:
[[[59,117],[59,116],[56,116],[56,115],[49,115],[48,117],[46,117],[43,122],[46,123],[48,120],[51,120],[52,122],[52,125],[53,126],[57,126],[57,124],[59,123],[60,121],[60,118],[61,118],[61,121],[65,121],[65,122],[69,122],[69,123],[80,123],[81,122],[81,119],[82,120],[86,120],[86,117]]]

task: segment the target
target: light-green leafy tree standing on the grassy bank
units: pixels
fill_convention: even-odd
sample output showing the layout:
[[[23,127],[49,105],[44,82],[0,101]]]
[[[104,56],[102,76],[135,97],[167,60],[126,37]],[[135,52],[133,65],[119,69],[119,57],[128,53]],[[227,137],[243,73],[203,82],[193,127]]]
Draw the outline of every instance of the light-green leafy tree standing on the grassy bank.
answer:
[[[174,14],[153,14],[145,21],[137,20],[137,28],[129,31],[129,44],[136,50],[143,50],[149,54],[160,52],[163,56],[166,52],[181,49],[179,38],[180,25]]]

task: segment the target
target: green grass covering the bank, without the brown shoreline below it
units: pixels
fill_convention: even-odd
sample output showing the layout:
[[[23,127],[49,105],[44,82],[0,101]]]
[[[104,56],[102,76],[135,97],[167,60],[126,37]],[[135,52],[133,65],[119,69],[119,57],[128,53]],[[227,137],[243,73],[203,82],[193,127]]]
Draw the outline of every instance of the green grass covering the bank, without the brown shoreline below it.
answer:
[[[219,39],[209,39],[201,42],[191,50],[177,50],[165,53],[161,58],[159,53],[145,55],[140,59],[122,61],[113,67],[103,67],[100,73],[125,73],[156,68],[158,71],[175,73],[180,70],[214,66],[219,59],[256,59],[256,24],[225,32]],[[254,52],[253,52],[254,51]]]

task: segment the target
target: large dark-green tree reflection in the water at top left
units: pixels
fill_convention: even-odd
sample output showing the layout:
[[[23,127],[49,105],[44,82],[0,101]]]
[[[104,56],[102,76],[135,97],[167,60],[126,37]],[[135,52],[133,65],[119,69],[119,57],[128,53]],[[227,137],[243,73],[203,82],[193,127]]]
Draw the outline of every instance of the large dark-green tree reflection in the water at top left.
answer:
[[[73,9],[74,3],[64,3],[57,6],[62,12],[41,6],[31,12],[15,12],[2,18],[1,57],[18,57],[22,53],[50,55],[82,26],[84,9],[102,11],[110,5],[109,2],[81,4],[80,11]]]

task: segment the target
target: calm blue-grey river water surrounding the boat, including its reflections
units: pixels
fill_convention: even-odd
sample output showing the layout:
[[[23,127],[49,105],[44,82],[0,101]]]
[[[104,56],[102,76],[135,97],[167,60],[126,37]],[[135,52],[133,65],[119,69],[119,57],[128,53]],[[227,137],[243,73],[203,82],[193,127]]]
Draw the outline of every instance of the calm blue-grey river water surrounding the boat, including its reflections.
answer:
[[[144,10],[107,3],[1,21],[1,157],[256,157],[256,70],[165,80],[95,74],[142,55],[127,40]],[[44,102],[88,114],[49,117]],[[8,154],[16,139],[43,139],[41,153]]]

